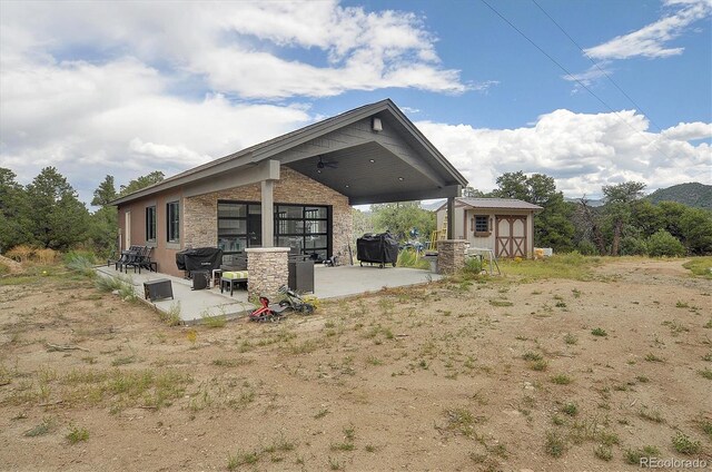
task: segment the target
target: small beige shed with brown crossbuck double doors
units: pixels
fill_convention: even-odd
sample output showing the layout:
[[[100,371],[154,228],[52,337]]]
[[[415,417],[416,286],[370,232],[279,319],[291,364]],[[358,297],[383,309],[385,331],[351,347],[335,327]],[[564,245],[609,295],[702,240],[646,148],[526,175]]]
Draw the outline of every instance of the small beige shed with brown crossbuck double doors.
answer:
[[[497,257],[533,257],[534,213],[542,209],[514,198],[455,198],[452,237],[467,240],[471,247],[492,249]],[[436,212],[441,228],[447,205]]]

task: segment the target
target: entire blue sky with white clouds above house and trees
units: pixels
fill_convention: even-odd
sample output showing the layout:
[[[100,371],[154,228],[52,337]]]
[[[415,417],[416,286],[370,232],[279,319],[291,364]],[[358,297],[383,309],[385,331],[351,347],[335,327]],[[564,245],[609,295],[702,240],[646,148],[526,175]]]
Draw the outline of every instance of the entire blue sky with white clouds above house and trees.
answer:
[[[468,179],[712,184],[712,0],[0,1],[0,167],[90,201],[390,98]]]

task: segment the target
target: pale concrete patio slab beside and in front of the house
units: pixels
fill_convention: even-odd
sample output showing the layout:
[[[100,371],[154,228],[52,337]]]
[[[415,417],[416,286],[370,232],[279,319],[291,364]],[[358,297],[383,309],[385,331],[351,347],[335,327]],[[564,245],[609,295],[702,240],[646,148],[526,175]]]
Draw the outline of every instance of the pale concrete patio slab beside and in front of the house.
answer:
[[[96,271],[99,276],[103,277],[127,277],[134,286],[136,296],[141,301],[144,301],[145,282],[159,278],[169,279],[174,293],[172,299],[145,302],[164,313],[168,313],[175,306],[180,306],[180,319],[185,324],[200,323],[206,316],[224,315],[228,319],[239,318],[255,309],[255,306],[248,301],[248,294],[245,289],[237,289],[230,296],[229,292],[220,293],[219,286],[194,291],[191,289],[192,281],[168,274],[147,271],[142,271],[141,274],[123,274],[116,271],[113,266],[99,266]],[[403,267],[379,269],[370,266],[317,266],[314,271],[314,278],[316,287],[314,296],[318,299],[335,299],[377,292],[382,288],[427,284],[432,281],[439,281],[441,276],[428,271]]]

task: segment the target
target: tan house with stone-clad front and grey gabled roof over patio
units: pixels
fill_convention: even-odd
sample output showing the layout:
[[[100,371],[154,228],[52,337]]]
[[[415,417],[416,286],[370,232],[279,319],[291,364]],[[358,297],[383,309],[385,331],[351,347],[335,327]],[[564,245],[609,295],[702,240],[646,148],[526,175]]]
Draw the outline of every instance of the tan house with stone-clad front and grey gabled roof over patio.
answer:
[[[122,248],[152,246],[159,272],[180,275],[175,256],[188,247],[220,247],[227,258],[247,253],[248,265],[253,255],[273,252],[319,259],[346,256],[355,252],[349,248],[352,205],[452,201],[466,184],[385,99],[215,159],[112,204]],[[270,268],[274,260],[269,264],[265,269],[281,271]]]

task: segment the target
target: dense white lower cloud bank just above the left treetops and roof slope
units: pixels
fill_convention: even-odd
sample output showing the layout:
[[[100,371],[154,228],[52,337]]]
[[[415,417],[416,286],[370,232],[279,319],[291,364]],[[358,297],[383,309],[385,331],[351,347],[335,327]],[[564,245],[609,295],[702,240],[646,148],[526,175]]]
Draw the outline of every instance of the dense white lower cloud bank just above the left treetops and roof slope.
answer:
[[[55,166],[85,200],[107,174],[118,184],[176,174],[313,120],[300,106],[186,99],[134,59],[105,65],[32,61],[0,76],[0,167],[29,183]]]

